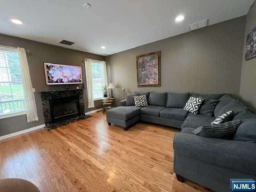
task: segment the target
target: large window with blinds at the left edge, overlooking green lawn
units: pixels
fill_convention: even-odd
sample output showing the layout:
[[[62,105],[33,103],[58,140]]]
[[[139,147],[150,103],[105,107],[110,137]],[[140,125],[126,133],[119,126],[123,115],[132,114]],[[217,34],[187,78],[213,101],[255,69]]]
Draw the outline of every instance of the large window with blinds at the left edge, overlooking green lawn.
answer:
[[[18,52],[15,49],[0,47],[0,116],[24,111]]]

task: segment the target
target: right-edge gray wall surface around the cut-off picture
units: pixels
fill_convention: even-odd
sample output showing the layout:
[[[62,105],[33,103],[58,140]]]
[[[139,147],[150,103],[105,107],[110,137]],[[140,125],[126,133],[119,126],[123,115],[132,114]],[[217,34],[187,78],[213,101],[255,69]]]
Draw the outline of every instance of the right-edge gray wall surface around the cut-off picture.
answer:
[[[256,3],[246,16],[244,36],[244,55],[241,74],[240,97],[252,109],[256,110],[256,58],[245,60],[246,36],[256,27]]]

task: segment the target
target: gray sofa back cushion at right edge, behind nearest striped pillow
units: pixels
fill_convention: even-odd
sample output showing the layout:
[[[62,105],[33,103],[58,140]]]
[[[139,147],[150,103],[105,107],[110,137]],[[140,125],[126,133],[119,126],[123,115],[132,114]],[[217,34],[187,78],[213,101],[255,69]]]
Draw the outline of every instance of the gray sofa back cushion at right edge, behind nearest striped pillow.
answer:
[[[233,140],[256,143],[256,119],[244,120],[237,128]]]

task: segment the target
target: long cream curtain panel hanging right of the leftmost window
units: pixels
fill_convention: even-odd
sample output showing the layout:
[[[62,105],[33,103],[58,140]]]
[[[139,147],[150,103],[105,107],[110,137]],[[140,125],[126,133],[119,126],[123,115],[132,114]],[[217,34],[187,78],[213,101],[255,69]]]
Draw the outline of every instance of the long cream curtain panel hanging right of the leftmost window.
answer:
[[[32,83],[29,74],[28,60],[25,49],[18,47],[18,54],[20,58],[20,70],[24,89],[27,122],[38,121],[36,101],[32,90]]]

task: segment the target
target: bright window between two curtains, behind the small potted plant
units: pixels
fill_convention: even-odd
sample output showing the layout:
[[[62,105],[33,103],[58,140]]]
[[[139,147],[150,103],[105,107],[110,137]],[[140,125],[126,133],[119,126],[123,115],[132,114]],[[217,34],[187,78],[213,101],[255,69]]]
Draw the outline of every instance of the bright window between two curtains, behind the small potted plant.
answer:
[[[106,85],[104,65],[100,61],[92,60],[92,92],[93,99],[103,97],[102,87]]]

